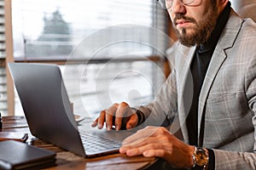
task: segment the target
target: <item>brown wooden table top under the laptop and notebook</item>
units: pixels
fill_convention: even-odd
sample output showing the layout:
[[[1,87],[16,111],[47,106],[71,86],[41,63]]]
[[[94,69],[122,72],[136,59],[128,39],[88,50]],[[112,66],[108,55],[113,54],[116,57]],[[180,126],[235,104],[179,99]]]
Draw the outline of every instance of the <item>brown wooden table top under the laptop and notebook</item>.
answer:
[[[20,132],[29,133],[28,144],[35,145],[46,150],[53,150],[56,152],[55,167],[47,169],[147,169],[154,162],[156,158],[145,158],[143,156],[128,157],[121,154],[114,154],[109,156],[101,156],[96,158],[84,158],[77,156],[67,150],[55,146],[54,144],[46,143],[40,139],[32,136],[24,116],[3,116],[3,131],[5,132]]]

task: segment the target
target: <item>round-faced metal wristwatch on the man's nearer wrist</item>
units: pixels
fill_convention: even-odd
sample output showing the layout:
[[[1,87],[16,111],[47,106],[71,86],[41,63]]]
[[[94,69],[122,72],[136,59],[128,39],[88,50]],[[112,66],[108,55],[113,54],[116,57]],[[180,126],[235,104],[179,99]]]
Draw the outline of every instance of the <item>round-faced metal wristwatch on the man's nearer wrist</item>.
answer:
[[[195,152],[192,155],[192,158],[194,161],[193,167],[197,165],[199,167],[202,167],[203,170],[207,169],[209,163],[209,156],[206,149],[195,146]]]

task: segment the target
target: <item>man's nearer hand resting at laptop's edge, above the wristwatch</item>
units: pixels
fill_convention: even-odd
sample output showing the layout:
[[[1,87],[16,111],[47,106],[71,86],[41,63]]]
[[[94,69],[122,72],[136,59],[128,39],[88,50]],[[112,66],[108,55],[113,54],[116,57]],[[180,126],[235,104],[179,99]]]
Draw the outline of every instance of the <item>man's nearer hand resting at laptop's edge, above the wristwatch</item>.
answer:
[[[123,141],[120,153],[127,156],[162,157],[173,167],[191,168],[195,147],[184,144],[165,127],[145,127]]]

